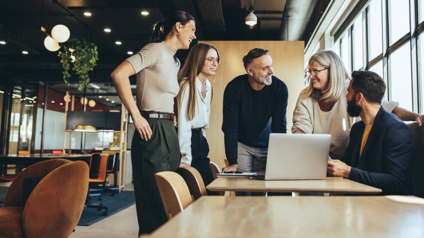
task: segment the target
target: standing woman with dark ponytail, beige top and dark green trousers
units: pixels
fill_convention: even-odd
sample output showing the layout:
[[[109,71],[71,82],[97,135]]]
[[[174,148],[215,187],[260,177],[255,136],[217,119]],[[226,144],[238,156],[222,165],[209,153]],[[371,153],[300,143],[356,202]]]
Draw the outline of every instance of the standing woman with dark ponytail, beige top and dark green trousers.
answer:
[[[150,44],[122,62],[111,77],[128,109],[136,131],[131,145],[139,235],[151,233],[168,218],[156,185],[155,173],[176,171],[180,161],[174,129],[173,99],[178,94],[180,66],[175,53],[196,39],[194,18],[173,11],[153,27]],[[131,75],[137,74],[137,103],[131,93]]]

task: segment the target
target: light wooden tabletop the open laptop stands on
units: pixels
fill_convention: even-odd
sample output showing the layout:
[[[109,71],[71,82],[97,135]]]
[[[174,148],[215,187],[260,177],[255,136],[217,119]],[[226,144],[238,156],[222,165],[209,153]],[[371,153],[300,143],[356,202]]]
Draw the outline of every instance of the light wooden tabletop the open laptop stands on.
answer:
[[[377,194],[381,189],[349,179],[327,177],[322,180],[258,180],[248,177],[219,177],[207,189],[238,192],[329,192],[351,194]]]

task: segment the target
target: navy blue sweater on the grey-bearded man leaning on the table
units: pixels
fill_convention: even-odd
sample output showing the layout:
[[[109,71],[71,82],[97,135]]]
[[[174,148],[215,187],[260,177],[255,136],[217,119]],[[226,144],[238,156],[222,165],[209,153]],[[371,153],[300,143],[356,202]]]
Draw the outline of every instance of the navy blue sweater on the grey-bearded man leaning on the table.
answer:
[[[272,83],[254,90],[248,75],[240,75],[225,87],[222,131],[230,165],[237,164],[237,142],[267,148],[269,134],[286,133],[287,86],[272,76]]]

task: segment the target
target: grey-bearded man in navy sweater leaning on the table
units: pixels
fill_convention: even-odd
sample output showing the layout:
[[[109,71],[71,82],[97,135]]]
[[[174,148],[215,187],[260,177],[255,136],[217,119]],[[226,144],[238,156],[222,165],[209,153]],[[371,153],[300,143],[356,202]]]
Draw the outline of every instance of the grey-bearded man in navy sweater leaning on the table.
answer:
[[[222,131],[230,165],[223,172],[265,171],[269,134],[286,133],[287,86],[272,75],[269,51],[252,49],[243,63],[247,74],[224,91]]]

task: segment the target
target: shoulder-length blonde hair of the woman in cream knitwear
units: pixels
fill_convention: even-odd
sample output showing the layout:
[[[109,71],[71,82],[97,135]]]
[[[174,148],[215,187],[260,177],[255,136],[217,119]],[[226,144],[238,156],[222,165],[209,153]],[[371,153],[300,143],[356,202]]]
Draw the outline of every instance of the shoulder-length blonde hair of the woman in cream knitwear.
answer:
[[[350,79],[349,73],[343,64],[343,61],[334,51],[319,51],[309,58],[308,64],[315,63],[329,69],[329,81],[327,88],[321,92],[313,87],[312,80],[309,85],[303,89],[301,94],[305,97],[311,97],[317,101],[326,103],[335,103],[344,94],[344,83]]]

